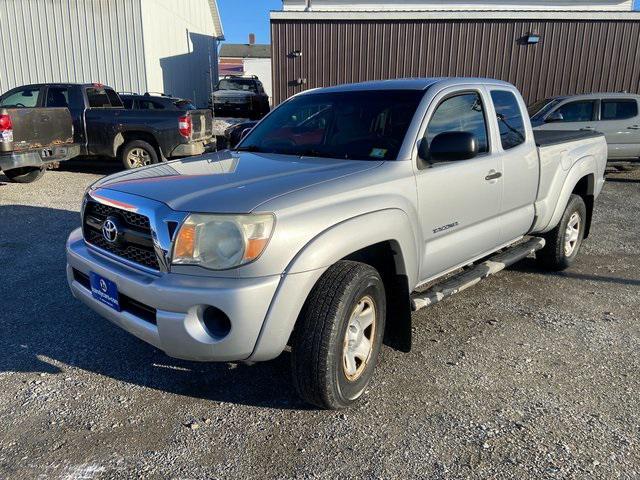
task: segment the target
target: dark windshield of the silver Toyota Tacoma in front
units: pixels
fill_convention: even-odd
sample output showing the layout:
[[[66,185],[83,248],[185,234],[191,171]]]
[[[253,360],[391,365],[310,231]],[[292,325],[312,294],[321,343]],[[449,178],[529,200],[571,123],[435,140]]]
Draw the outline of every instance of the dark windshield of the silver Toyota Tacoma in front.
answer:
[[[310,93],[283,103],[237,150],[354,160],[394,160],[422,90]]]

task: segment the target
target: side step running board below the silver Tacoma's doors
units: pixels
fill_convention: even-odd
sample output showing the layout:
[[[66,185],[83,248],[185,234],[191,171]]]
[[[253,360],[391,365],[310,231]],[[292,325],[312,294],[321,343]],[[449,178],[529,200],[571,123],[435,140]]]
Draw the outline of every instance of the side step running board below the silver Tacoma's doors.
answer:
[[[509,265],[528,257],[532,253],[544,247],[544,238],[533,237],[524,243],[520,243],[501,253],[491,257],[489,260],[472,266],[446,281],[436,284],[421,293],[411,295],[411,309],[413,311],[428,307],[440,300],[450,297],[458,292],[466,290],[475,285],[489,275],[504,270]]]

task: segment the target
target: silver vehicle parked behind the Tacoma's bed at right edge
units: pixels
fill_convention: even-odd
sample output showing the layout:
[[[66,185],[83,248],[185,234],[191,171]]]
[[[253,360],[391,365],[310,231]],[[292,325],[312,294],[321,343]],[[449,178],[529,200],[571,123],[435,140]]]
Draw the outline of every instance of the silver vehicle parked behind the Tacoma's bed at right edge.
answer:
[[[529,107],[536,130],[602,132],[610,160],[640,158],[640,95],[593,93],[540,100]]]

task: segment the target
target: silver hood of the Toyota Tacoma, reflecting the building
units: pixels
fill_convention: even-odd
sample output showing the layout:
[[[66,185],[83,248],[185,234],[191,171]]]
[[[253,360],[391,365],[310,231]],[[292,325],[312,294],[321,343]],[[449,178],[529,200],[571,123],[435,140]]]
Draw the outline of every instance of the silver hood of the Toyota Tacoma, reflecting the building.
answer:
[[[177,211],[249,213],[273,198],[382,163],[225,150],[120,172],[92,189],[138,195]]]

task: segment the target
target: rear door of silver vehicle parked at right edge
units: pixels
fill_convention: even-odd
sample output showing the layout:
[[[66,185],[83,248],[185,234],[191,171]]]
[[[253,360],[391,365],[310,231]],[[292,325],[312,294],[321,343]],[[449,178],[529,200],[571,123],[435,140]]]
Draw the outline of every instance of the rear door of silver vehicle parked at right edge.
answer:
[[[603,98],[596,130],[604,133],[611,159],[640,157],[640,117],[635,98]]]

